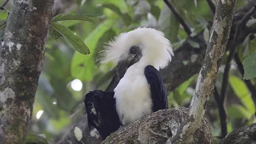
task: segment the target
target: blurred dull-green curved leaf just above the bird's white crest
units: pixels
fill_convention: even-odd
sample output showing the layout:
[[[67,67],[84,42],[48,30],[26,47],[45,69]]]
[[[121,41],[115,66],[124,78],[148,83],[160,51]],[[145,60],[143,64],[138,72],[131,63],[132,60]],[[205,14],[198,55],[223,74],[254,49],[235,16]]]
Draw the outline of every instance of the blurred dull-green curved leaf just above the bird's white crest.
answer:
[[[106,7],[110,10],[113,10],[116,14],[118,14],[120,16],[120,18],[122,18],[122,20],[124,22],[126,22],[126,25],[130,25],[131,22],[131,18],[129,14],[122,14],[122,11],[118,8],[118,6],[114,6],[112,4],[103,4],[103,7]]]

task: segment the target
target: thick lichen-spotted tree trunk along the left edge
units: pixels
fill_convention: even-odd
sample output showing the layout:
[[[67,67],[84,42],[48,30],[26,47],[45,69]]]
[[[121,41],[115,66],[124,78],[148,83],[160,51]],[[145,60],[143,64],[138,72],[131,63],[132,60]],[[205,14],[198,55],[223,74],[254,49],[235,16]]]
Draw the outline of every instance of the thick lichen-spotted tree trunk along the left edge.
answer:
[[[24,143],[54,0],[14,0],[0,48],[0,143]]]

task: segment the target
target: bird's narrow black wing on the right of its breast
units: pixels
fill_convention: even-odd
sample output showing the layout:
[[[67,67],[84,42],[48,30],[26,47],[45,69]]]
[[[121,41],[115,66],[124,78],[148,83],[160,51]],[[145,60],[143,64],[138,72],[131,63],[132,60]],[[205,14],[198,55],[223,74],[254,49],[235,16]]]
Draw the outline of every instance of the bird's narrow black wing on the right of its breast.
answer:
[[[154,66],[146,66],[144,74],[147,82],[150,84],[153,111],[167,109],[167,94],[158,70]]]

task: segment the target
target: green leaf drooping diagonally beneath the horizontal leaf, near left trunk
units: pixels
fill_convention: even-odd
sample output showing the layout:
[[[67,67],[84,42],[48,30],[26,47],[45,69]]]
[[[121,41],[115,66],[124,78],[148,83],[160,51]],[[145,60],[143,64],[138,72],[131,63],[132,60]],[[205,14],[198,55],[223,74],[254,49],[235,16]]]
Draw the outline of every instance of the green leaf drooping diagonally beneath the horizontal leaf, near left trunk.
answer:
[[[90,54],[90,50],[85,42],[83,42],[82,39],[75,35],[69,28],[58,22],[52,22],[50,26],[62,34],[62,36],[74,47],[74,50],[77,50],[81,54]]]

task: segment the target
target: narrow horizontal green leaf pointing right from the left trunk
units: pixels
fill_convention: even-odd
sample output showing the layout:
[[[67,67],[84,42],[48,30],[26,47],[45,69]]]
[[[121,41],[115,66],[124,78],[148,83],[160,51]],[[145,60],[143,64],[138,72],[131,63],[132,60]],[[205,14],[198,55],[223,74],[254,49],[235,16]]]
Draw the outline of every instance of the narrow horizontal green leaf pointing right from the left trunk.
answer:
[[[68,21],[68,20],[78,20],[78,21],[98,23],[98,18],[95,18],[94,16],[78,15],[78,14],[58,14],[53,18],[52,22]]]

